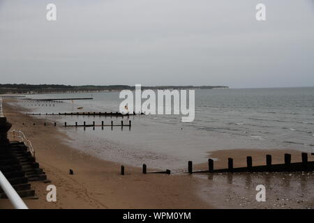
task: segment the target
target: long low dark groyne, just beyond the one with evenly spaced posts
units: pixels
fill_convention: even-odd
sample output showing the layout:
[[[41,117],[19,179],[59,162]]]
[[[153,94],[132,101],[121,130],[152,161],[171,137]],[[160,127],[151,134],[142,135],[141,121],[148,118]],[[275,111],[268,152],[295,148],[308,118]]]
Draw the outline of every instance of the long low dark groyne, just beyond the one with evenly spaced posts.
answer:
[[[144,115],[144,113],[127,113],[127,114],[122,114],[120,112],[59,112],[59,113],[29,113],[29,115],[32,116],[139,116],[139,115]]]

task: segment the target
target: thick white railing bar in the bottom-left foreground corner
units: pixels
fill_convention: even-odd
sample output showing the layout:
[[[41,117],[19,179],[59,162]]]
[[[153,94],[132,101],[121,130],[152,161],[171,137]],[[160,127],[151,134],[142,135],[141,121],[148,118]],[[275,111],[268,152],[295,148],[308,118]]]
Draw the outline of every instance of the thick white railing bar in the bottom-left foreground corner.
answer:
[[[21,199],[20,195],[14,190],[10,182],[6,179],[6,177],[0,171],[0,186],[3,192],[6,193],[6,197],[10,199],[10,202],[13,204],[16,209],[29,209],[27,208],[24,201]]]

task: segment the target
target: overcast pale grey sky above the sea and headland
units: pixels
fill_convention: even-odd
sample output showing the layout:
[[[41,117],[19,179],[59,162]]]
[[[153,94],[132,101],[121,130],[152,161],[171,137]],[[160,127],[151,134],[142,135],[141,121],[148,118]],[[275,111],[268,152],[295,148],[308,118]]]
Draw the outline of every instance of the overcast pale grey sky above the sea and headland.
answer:
[[[0,0],[0,82],[314,86],[313,1]]]

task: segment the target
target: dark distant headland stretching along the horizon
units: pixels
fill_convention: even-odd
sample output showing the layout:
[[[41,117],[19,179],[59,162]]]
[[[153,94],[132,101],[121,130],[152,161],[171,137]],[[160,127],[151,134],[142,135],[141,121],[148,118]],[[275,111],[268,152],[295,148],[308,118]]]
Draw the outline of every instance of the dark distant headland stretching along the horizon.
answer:
[[[142,86],[142,89],[228,89],[228,86]],[[0,93],[79,93],[132,90],[129,85],[0,84]]]

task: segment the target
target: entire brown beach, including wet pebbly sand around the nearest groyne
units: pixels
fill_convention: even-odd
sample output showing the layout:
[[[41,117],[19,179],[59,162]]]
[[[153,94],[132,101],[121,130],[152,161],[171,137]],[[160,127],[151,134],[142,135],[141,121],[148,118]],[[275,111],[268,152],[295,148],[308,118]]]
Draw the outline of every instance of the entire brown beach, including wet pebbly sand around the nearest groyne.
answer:
[[[9,100],[11,99],[5,101]],[[46,172],[48,180],[51,180],[51,183],[31,183],[32,189],[36,190],[37,199],[24,199],[29,208],[242,208],[241,197],[239,194],[232,194],[230,185],[241,192],[241,178],[253,175],[257,181],[264,179],[261,174],[234,174],[233,182],[230,183],[230,174],[215,175],[215,181],[208,174],[142,174],[142,169],[130,166],[126,166],[126,175],[121,176],[119,163],[100,160],[71,148],[63,142],[68,137],[59,132],[58,127],[44,126],[45,119],[22,114],[22,107],[8,105],[6,102],[3,110],[8,121],[13,124],[11,130],[22,130],[31,140],[36,151],[36,160]],[[265,163],[266,154],[273,155],[274,163],[282,163],[283,154],[287,152],[292,154],[292,162],[301,161],[300,151],[271,149],[220,150],[209,153],[208,157],[217,159],[214,162],[215,168],[227,167],[227,157],[234,158],[234,167],[245,167],[247,155],[253,157],[253,164],[256,165]],[[313,156],[310,155],[309,160],[314,160]],[[194,167],[195,170],[206,168],[207,164],[195,164]],[[69,169],[73,169],[74,175],[69,174]],[[274,174],[274,178],[280,177],[285,177],[285,174]],[[250,182],[249,196],[254,200],[253,194],[256,192],[253,186],[256,183],[252,180]],[[298,180],[292,179],[291,182],[298,183]],[[305,182],[307,185],[313,182],[313,173],[306,176]],[[57,202],[46,201],[46,187],[49,184],[57,187]],[[244,194],[248,192],[246,187],[248,185],[244,185]],[[273,192],[275,190],[269,193]],[[313,191],[304,190],[304,193],[311,192]],[[277,194],[283,193],[285,190]],[[218,194],[220,197],[217,197]],[[289,203],[290,207],[300,207],[297,202],[298,194],[291,193],[291,196],[289,199],[293,199],[293,202]],[[234,199],[231,202],[225,197]],[[304,199],[307,201],[301,203],[301,208],[311,208],[314,203],[313,195],[308,197],[305,194]],[[280,203],[276,208],[287,208],[283,206],[286,201],[276,201]],[[246,208],[274,208],[271,202],[273,201],[262,206],[256,202],[248,202],[250,204]],[[7,199],[0,199],[0,208],[12,206]]]

